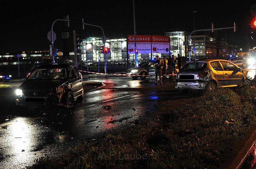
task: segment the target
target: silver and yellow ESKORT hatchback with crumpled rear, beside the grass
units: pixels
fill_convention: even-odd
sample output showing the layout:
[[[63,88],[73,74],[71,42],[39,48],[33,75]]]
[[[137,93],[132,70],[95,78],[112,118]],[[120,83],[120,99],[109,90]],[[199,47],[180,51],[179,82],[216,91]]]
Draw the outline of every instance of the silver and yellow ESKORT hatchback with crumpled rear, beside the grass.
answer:
[[[217,87],[235,87],[245,81],[247,71],[230,61],[206,59],[190,61],[176,76],[177,89],[213,89]]]

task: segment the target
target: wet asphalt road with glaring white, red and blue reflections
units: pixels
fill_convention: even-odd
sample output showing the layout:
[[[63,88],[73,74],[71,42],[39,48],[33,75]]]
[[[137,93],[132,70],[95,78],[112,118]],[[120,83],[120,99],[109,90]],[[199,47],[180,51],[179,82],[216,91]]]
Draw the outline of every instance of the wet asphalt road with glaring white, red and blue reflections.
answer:
[[[85,93],[83,102],[67,110],[63,107],[20,108],[15,104],[15,90],[0,89],[0,168],[25,168],[45,155],[58,155],[68,147],[93,141],[140,123],[165,100],[200,95],[198,91],[180,93],[174,80],[165,79],[155,86],[153,78],[87,78],[106,86]],[[89,86],[85,86],[85,89]],[[184,100],[184,101],[185,101]],[[110,109],[102,108],[110,105]]]

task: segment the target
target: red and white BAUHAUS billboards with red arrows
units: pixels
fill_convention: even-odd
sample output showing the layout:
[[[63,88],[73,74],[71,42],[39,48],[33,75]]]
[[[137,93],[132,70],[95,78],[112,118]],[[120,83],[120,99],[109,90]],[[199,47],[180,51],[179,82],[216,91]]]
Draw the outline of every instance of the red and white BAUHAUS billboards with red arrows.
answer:
[[[134,35],[127,36],[128,54],[134,54]],[[155,35],[136,35],[138,53],[169,53],[170,37]]]

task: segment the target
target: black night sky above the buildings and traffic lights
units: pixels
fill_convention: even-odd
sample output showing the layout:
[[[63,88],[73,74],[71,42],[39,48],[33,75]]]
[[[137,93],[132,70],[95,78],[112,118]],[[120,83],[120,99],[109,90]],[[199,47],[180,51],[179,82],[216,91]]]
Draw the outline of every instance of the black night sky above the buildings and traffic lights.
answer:
[[[250,23],[255,16],[250,12],[255,0],[246,1],[145,1],[135,0],[137,34],[164,35],[168,31],[193,31],[195,29],[233,27],[237,32],[226,30],[228,43],[248,49],[256,42],[250,42]],[[100,25],[107,37],[126,37],[133,34],[133,0],[119,1],[1,1],[0,6],[0,54],[49,50],[47,33],[55,19],[69,15],[70,28],[63,21],[57,21],[53,30],[57,34],[55,46],[62,50],[62,31],[70,31],[69,50],[73,51],[73,31],[82,37],[101,36],[100,28],[86,26],[81,21]],[[218,37],[225,38],[225,31],[218,31]]]

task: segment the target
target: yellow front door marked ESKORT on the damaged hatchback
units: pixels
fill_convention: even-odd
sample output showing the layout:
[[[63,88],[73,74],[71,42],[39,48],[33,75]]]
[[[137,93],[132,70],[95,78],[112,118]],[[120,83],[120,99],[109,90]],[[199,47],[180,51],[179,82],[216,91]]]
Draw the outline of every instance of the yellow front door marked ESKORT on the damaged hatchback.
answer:
[[[223,67],[223,77],[225,85],[240,85],[243,79],[241,69],[228,61],[220,61]]]

